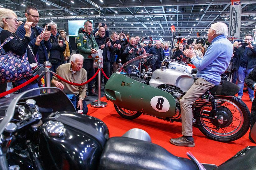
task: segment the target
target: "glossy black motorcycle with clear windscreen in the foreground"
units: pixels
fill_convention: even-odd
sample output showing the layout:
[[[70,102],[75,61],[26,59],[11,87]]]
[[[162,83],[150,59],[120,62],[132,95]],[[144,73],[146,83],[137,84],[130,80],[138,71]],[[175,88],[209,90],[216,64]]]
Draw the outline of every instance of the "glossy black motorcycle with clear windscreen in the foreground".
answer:
[[[0,169],[255,169],[256,147],[248,146],[220,165],[176,157],[151,143],[141,129],[109,138],[101,120],[77,114],[63,91],[0,100]],[[34,89],[33,89],[34,90]],[[256,133],[256,128],[255,132]]]

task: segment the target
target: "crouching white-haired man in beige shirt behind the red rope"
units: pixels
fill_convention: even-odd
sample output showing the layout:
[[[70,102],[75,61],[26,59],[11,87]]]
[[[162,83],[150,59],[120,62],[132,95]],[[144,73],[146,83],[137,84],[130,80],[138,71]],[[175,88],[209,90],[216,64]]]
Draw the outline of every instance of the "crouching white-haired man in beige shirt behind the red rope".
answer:
[[[73,54],[70,63],[60,65],[56,74],[73,83],[84,83],[87,80],[87,72],[83,67],[83,56],[80,54]],[[62,89],[66,94],[75,95],[77,110],[83,110],[83,114],[87,114],[88,107],[84,100],[86,96],[86,84],[83,86],[74,86],[62,82],[56,76],[53,76],[52,85]]]

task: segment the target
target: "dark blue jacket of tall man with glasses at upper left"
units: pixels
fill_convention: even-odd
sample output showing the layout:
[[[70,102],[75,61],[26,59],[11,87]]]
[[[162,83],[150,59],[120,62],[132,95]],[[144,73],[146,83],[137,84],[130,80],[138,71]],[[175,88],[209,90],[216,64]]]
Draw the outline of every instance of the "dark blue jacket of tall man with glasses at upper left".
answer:
[[[24,28],[24,25],[25,25],[25,22],[24,22],[21,26],[19,26],[18,29],[17,29],[17,31],[16,31],[16,34],[17,34],[21,39],[23,39],[24,36],[25,36],[25,34],[26,34],[26,30],[25,30],[25,28]],[[40,34],[40,33],[42,32],[42,30],[43,30],[41,27],[38,27],[38,26],[36,26],[36,29],[37,29],[37,31],[38,31],[39,34]],[[30,45],[30,47],[32,47],[32,49],[34,48],[35,43],[36,43],[36,36],[35,36],[35,35],[36,35],[36,34],[34,33],[34,30],[31,28],[31,36],[30,36],[31,41],[29,42],[29,45]],[[41,58],[41,57],[42,57],[42,58],[45,58],[45,60],[48,61],[48,52],[50,51],[50,49],[51,49],[51,47],[52,47],[50,41],[49,41],[49,40],[48,40],[48,41],[42,40],[42,41],[40,42],[40,47],[43,48],[44,53],[45,53],[45,56],[38,56],[38,53],[36,53],[35,55],[36,55],[37,61],[39,62],[39,57],[40,57],[40,58]]]

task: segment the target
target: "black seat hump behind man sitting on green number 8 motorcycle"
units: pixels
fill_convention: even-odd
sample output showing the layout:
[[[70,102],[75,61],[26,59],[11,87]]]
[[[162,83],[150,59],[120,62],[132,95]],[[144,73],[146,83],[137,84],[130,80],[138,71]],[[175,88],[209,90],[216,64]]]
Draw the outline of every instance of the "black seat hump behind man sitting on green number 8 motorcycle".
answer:
[[[236,84],[223,80],[222,84],[212,87],[209,91],[213,95],[233,96],[238,93],[239,89]]]

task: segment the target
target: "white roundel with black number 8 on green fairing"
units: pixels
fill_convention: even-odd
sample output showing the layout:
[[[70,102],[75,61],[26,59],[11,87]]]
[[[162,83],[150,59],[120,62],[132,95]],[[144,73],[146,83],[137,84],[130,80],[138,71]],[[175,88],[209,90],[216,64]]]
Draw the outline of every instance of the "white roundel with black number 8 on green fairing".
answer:
[[[167,112],[170,108],[168,100],[163,96],[154,96],[150,101],[150,105],[158,112]]]

